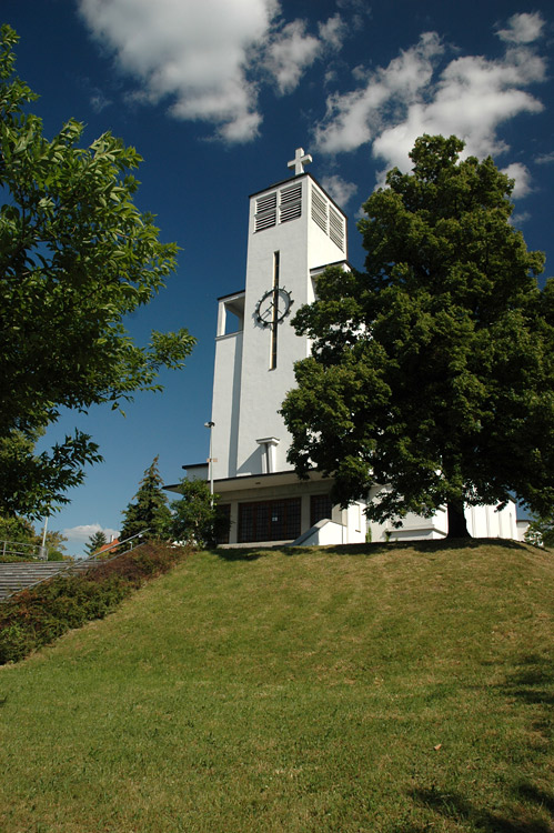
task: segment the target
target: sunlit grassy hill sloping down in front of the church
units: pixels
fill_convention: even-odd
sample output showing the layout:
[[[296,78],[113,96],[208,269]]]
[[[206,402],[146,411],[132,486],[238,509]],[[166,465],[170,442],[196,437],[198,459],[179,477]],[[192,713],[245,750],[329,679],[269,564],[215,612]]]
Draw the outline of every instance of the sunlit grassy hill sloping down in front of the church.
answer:
[[[0,669],[2,833],[554,831],[554,558],[199,553]]]

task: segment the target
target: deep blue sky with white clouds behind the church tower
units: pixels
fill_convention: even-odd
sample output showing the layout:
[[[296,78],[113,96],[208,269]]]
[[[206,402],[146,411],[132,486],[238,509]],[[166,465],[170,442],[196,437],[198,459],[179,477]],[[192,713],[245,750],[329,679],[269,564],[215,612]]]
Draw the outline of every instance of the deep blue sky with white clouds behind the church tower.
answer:
[[[208,455],[215,299],[244,285],[248,197],[289,175],[294,149],[355,229],[383,172],[407,169],[423,133],[456,133],[514,177],[514,222],[553,273],[552,3],[483,0],[3,0],[21,40],[18,72],[40,94],[48,137],[74,117],[83,142],[111,130],[143,155],[137,202],[161,238],[182,248],[168,288],[128,321],[188,327],[198,339],[162,394],[127,416],[64,414],[100,443],[71,504],[50,521],[82,551],[98,529],[119,530],[144,469],[165,482]]]

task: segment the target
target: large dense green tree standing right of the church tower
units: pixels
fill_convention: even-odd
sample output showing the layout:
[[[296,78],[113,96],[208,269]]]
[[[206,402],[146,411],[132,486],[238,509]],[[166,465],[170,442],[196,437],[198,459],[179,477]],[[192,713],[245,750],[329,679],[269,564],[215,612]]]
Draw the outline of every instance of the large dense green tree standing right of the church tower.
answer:
[[[283,404],[300,475],[369,515],[431,515],[516,495],[554,504],[554,283],[510,223],[513,181],[463,142],[420,138],[364,204],[365,271],[328,270],[294,319],[313,340]]]

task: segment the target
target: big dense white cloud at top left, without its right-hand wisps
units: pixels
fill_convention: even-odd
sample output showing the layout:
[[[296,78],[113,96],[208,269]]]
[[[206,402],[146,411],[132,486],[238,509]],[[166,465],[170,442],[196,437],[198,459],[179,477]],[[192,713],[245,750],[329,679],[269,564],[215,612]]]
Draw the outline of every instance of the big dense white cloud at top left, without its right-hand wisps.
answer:
[[[79,0],[84,21],[142,84],[173,99],[175,118],[215,123],[230,141],[256,134],[251,51],[265,42],[278,0]]]

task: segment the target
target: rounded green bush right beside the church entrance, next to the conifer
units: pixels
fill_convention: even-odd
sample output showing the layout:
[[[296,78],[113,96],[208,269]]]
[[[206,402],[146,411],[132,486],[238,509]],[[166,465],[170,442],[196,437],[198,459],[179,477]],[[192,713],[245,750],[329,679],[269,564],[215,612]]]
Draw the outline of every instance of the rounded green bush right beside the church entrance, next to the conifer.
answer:
[[[229,530],[229,519],[218,511],[219,495],[212,495],[203,480],[183,479],[179,491],[181,500],[171,504],[173,538],[195,546],[215,545]]]

